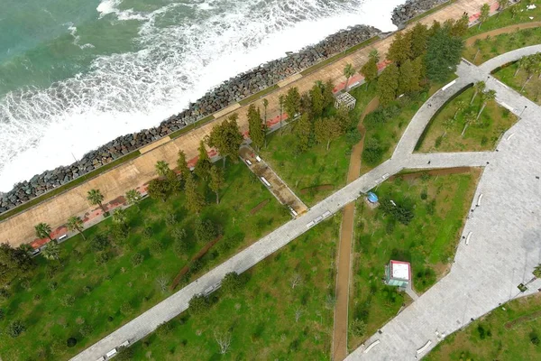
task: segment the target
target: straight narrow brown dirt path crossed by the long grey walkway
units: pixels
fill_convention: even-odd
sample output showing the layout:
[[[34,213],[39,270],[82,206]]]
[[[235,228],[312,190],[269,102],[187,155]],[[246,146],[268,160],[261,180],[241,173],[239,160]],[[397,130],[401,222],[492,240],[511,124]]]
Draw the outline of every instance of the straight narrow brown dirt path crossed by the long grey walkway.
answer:
[[[361,156],[364,145],[366,129],[362,122],[364,117],[380,104],[374,97],[362,112],[361,120],[357,128],[362,134],[361,141],[353,146],[350,156],[350,166],[347,173],[347,183],[351,183],[361,175]],[[333,360],[342,361],[347,356],[347,318],[349,285],[351,273],[351,254],[353,245],[353,224],[355,203],[345,206],[340,230],[340,245],[338,245],[338,273],[336,275],[336,305],[335,305],[335,329],[333,334]]]

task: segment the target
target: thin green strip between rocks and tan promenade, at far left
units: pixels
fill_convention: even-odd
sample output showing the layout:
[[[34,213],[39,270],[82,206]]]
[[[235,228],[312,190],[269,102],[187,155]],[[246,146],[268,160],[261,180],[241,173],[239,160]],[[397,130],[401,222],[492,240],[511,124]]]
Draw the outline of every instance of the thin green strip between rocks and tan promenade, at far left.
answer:
[[[41,195],[39,197],[30,199],[29,201],[27,201],[26,203],[23,203],[21,206],[19,206],[17,208],[13,208],[13,209],[10,209],[10,210],[2,213],[2,215],[0,215],[0,221],[2,221],[4,219],[7,219],[7,218],[10,218],[10,217],[13,217],[17,213],[23,212],[24,210],[26,210],[28,208],[31,208],[31,207],[37,205],[38,203],[41,203],[43,200],[50,199],[52,197],[58,196],[60,193],[63,193],[65,191],[67,191],[67,190],[71,190],[72,188],[77,187],[79,184],[81,184],[81,183],[83,183],[83,182],[85,182],[87,180],[91,180],[92,178],[98,176],[99,174],[101,174],[101,173],[103,173],[105,171],[109,171],[109,170],[115,168],[116,166],[118,166],[118,165],[120,165],[120,164],[122,164],[124,162],[129,162],[129,161],[137,158],[140,155],[141,155],[141,153],[139,151],[134,151],[132,153],[124,155],[124,157],[116,159],[113,162],[109,162],[109,163],[99,167],[98,169],[96,169],[94,171],[89,171],[89,172],[87,172],[87,174],[84,174],[84,175],[76,178],[75,180],[71,180],[71,181],[69,181],[69,183],[61,185],[59,188],[55,188],[54,190],[50,190],[47,193],[44,193],[43,195]]]

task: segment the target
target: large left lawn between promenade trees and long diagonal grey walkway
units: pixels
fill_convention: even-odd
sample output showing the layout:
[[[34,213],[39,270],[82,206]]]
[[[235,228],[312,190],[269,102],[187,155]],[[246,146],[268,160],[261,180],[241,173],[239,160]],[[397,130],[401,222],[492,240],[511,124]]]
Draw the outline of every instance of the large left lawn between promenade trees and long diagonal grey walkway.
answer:
[[[251,174],[243,163],[231,163],[226,168],[221,203],[216,205],[214,193],[206,192],[208,205],[202,218],[221,224],[225,236],[194,265],[192,279],[289,219],[285,208]],[[271,201],[250,215],[250,210],[265,199]],[[129,208],[129,236],[107,247],[110,260],[105,264],[96,264],[90,239],[97,233],[108,234],[111,218],[88,229],[87,241],[75,236],[62,244],[61,263],[55,274],[48,272],[50,261],[38,256],[34,273],[16,282],[10,290],[12,296],[0,303],[5,311],[0,330],[14,319],[21,319],[26,326],[18,338],[2,332],[0,356],[4,360],[67,359],[169,296],[170,289],[160,291],[158,280],[164,278],[170,284],[203,247],[194,236],[197,216],[188,214],[184,202],[180,194],[167,202],[144,199],[139,211]],[[176,224],[171,220],[166,223],[171,214],[176,216]],[[173,251],[171,234],[175,227],[185,228],[190,240],[181,255]],[[142,264],[133,265],[135,254],[143,255]],[[51,282],[57,283],[54,291]],[[67,302],[67,296],[74,299]],[[78,339],[75,347],[66,347],[70,337]]]

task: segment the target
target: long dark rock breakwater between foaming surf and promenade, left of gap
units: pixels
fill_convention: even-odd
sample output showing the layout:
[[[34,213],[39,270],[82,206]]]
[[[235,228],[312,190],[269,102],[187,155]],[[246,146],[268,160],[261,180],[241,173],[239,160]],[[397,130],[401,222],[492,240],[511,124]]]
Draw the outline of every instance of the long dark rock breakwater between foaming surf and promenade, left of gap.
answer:
[[[75,180],[81,175],[94,171],[113,162],[125,154],[136,151],[163,136],[182,129],[197,120],[209,116],[218,110],[249,97],[265,88],[271,87],[282,79],[307,69],[321,60],[326,60],[338,52],[344,51],[360,42],[364,42],[381,33],[378,29],[357,25],[326,37],[322,42],[288,56],[272,60],[261,66],[228,79],[211,89],[197,102],[178,115],[170,116],[160,125],[134,134],[119,136],[115,140],[100,146],[95,151],[85,154],[78,162],[61,166],[53,171],[36,174],[31,180],[14,185],[14,189],[0,194],[0,214],[30,199],[41,196],[47,191]]]

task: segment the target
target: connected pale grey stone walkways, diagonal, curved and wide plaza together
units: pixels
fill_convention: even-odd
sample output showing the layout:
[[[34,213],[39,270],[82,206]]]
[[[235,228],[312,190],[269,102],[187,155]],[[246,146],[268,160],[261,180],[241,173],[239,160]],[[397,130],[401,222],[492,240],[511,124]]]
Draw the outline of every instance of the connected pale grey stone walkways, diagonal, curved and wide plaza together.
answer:
[[[151,310],[88,347],[72,360],[96,360],[125,340],[133,343],[143,338],[162,322],[187,310],[188,301],[194,295],[220,282],[225,273],[243,273],[305,233],[309,222],[324,215],[335,214],[357,199],[360,193],[371,190],[390,175],[406,168],[487,166],[475,199],[478,199],[481,193],[486,196],[481,208],[475,212],[475,217],[470,218],[464,228],[464,233],[474,232],[472,243],[467,247],[459,246],[456,264],[451,273],[397,318],[391,320],[382,329],[381,335],[371,338],[370,341],[378,340],[380,344],[371,349],[367,359],[402,360],[409,356],[413,359],[418,347],[425,345],[426,340],[435,338],[435,329],[448,334],[466,325],[470,317],[477,318],[497,307],[498,303],[517,296],[513,288],[519,282],[531,278],[529,270],[533,270],[533,264],[539,261],[539,249],[538,245],[534,244],[534,238],[541,236],[536,228],[540,220],[541,182],[534,175],[541,172],[541,157],[538,156],[538,153],[541,153],[541,108],[497,80],[490,79],[487,88],[495,89],[498,93],[497,100],[512,107],[513,113],[519,114],[521,109],[527,106],[522,119],[508,132],[517,134],[512,141],[502,141],[499,152],[412,152],[437,107],[442,106],[446,99],[460,90],[461,85],[486,79],[490,69],[537,51],[541,51],[541,45],[511,51],[479,68],[461,64],[458,69],[459,79],[445,91],[438,91],[419,109],[390,160],[317,203],[304,216],[291,220],[218,265],[197,281],[191,282]],[[508,134],[506,136],[509,137]],[[534,151],[538,153],[532,154]],[[427,164],[428,161],[431,164]],[[509,277],[511,269],[516,272],[513,271],[512,277]],[[433,347],[436,342],[432,341],[432,344]],[[358,348],[348,359],[361,358],[365,355],[363,351],[363,347]]]

